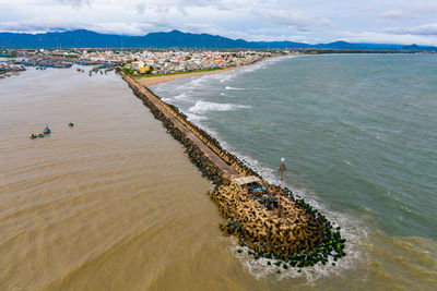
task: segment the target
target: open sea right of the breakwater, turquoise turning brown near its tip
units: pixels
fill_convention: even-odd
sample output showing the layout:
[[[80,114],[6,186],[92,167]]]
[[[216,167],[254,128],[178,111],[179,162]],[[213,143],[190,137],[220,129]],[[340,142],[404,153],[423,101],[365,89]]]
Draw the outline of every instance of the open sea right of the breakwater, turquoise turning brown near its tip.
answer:
[[[152,89],[271,181],[285,157],[287,185],[343,227],[347,267],[435,278],[437,56],[272,59]]]

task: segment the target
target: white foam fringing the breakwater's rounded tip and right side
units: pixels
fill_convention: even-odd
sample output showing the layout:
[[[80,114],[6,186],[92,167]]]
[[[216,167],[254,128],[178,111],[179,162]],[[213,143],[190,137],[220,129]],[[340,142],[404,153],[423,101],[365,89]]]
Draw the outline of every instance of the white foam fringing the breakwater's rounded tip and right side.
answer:
[[[223,148],[236,155],[249,167],[260,173],[267,181],[273,184],[280,183],[280,175],[277,174],[277,170],[262,165],[250,156],[243,155],[241,153],[236,151],[234,147],[224,142],[215,131],[211,130],[208,126],[202,128],[211,136],[216,138]],[[366,252],[366,246],[363,241],[366,241],[367,239],[367,231],[364,222],[362,222],[363,219],[328,209],[321,198],[309,189],[296,187],[287,183],[285,183],[285,186],[288,187],[297,197],[305,198],[307,203],[319,209],[319,211],[322,213],[333,223],[334,227],[341,227],[341,235],[342,238],[346,239],[346,247],[344,251],[347,255],[335,262],[336,266],[332,266],[331,264],[334,263],[334,260],[332,258],[329,258],[326,266],[318,264],[312,267],[302,268],[299,272],[299,268],[288,267],[287,270],[284,270],[282,267],[276,267],[274,265],[268,266],[267,262],[270,260],[271,264],[273,264],[274,260],[272,259],[255,259],[252,256],[247,255],[247,251],[249,248],[238,246],[237,240],[235,238],[233,238],[233,240],[235,240],[235,243],[231,252],[234,253],[235,256],[237,256],[247,267],[250,274],[252,274],[257,278],[265,278],[268,276],[275,275],[279,277],[279,279],[303,277],[306,278],[306,280],[308,280],[309,282],[312,282],[319,278],[329,277],[332,275],[338,276],[345,270],[355,268],[355,266],[357,266],[359,262],[364,258],[363,254]],[[238,253],[238,250],[241,250],[244,252]],[[281,274],[276,274],[276,270],[281,270]]]

